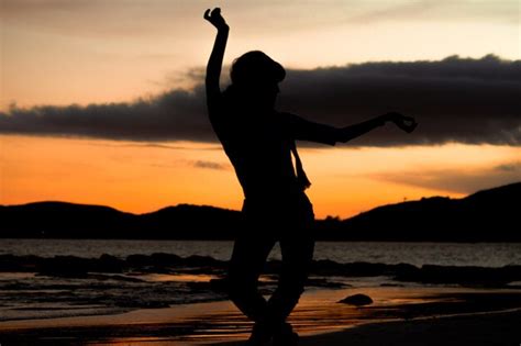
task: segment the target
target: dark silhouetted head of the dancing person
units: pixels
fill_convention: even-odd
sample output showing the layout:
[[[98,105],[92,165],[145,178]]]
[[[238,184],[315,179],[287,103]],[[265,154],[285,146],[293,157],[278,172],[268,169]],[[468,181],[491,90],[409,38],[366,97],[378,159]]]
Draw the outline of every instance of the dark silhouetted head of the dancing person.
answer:
[[[233,62],[230,77],[232,85],[247,94],[250,101],[273,109],[286,70],[263,52],[252,51]]]

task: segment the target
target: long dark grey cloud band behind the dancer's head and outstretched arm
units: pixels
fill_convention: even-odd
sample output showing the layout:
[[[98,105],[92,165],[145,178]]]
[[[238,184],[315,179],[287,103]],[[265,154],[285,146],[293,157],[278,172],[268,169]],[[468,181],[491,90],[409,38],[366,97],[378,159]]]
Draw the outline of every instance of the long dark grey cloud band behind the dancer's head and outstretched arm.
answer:
[[[279,109],[317,122],[345,126],[399,111],[420,123],[413,134],[389,125],[350,142],[352,146],[521,144],[521,60],[451,56],[437,62],[288,69],[280,89]],[[217,142],[201,80],[191,90],[134,102],[12,107],[0,113],[0,134]]]

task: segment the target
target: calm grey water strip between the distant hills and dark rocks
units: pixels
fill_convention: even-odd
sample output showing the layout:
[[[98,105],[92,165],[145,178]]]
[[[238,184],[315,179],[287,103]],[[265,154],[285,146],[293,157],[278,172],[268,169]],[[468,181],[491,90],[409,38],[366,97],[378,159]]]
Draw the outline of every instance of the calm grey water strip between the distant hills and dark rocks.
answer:
[[[103,254],[125,258],[154,253],[210,256],[228,260],[233,242],[208,241],[118,241],[118,239],[0,239],[0,255],[40,257],[77,256],[98,258]],[[277,246],[271,259],[280,259]],[[314,259],[346,263],[380,263],[440,266],[502,267],[521,265],[521,243],[393,243],[318,242]]]

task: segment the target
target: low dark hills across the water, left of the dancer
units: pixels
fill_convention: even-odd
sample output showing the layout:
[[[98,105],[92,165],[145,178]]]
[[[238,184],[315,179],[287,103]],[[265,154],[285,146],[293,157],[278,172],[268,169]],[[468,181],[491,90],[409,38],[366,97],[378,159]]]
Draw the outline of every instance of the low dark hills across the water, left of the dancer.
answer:
[[[13,238],[233,238],[241,213],[179,204],[132,214],[101,205],[36,202],[0,207],[0,237]]]

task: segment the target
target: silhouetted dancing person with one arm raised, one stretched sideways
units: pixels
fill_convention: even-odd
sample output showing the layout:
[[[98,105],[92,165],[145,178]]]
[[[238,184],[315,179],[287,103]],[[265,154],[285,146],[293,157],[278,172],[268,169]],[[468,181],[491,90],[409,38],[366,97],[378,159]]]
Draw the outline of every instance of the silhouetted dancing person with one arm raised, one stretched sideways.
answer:
[[[356,125],[336,129],[275,110],[278,83],[286,71],[262,52],[248,52],[232,65],[232,85],[221,92],[219,79],[229,26],[220,9],[204,19],[217,27],[207,68],[207,103],[213,130],[230,158],[244,192],[246,228],[235,239],[229,270],[230,299],[255,322],[251,345],[296,345],[298,335],[286,317],[303,292],[313,256],[313,208],[310,186],[296,139],[334,145],[392,121],[412,131],[413,119],[388,113]],[[411,124],[406,124],[411,122]],[[295,156],[296,169],[291,161]],[[278,287],[266,301],[257,290],[266,258],[279,242],[282,265]]]

